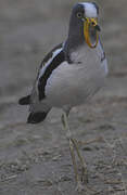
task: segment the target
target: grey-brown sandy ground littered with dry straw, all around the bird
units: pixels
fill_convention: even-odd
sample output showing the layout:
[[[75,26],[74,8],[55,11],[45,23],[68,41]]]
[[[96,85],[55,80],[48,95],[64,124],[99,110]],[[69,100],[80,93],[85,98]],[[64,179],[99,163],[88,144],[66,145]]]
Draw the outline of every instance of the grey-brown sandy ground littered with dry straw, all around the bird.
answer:
[[[0,195],[127,194],[127,1],[98,0],[110,75],[90,104],[69,115],[89,169],[88,187],[75,192],[61,110],[26,125],[18,98],[30,91],[43,55],[66,38],[75,0],[0,1]]]

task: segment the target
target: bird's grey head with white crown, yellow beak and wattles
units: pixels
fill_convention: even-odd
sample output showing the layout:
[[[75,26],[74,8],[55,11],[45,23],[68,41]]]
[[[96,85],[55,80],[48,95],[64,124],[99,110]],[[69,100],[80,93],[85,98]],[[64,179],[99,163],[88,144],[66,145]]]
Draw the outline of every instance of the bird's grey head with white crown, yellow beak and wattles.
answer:
[[[94,2],[76,3],[72,11],[69,30],[72,35],[82,36],[90,48],[96,48],[99,40],[99,6]],[[93,39],[93,40],[92,40]]]

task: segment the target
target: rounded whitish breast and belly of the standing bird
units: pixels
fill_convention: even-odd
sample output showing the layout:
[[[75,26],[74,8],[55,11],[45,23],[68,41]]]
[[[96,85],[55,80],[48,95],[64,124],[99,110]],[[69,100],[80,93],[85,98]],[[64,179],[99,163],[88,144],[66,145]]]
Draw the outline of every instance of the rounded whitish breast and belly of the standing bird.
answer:
[[[79,105],[103,86],[105,73],[98,48],[80,48],[72,57],[74,64],[62,63],[47,81],[46,96],[51,106]]]

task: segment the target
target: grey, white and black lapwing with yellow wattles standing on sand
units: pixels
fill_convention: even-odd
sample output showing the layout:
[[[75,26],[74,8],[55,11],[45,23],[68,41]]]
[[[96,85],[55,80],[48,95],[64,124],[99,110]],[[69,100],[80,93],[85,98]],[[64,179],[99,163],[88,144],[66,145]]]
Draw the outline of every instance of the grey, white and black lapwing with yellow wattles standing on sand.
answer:
[[[31,93],[18,101],[21,105],[29,105],[28,123],[43,121],[52,107],[62,108],[77,190],[88,182],[88,170],[78,141],[68,127],[68,114],[73,107],[87,104],[105,83],[109,68],[100,31],[99,5],[94,2],[74,4],[65,41],[43,57]]]

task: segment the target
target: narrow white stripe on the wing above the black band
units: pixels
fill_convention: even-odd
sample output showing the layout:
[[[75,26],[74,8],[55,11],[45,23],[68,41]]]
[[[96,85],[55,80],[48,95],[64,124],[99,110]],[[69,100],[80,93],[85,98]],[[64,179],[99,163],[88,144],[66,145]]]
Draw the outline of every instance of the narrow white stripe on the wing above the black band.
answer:
[[[50,66],[50,64],[51,64],[51,62],[53,61],[53,58],[54,58],[62,50],[63,50],[63,48],[56,49],[55,51],[53,51],[53,54],[52,54],[51,58],[49,58],[49,60],[47,61],[47,63],[45,64],[45,66],[42,66],[42,68],[40,69],[38,79],[45,74],[47,67]]]

